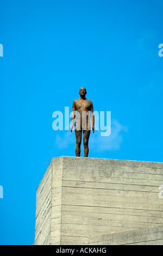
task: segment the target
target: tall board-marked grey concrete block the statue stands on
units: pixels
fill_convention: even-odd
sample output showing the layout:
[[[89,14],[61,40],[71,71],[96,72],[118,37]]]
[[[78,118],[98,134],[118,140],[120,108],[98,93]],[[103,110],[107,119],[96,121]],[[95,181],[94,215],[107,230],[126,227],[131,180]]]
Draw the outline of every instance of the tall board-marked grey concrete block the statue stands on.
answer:
[[[90,236],[163,224],[162,163],[63,156],[47,173],[37,189],[35,244],[84,245]]]

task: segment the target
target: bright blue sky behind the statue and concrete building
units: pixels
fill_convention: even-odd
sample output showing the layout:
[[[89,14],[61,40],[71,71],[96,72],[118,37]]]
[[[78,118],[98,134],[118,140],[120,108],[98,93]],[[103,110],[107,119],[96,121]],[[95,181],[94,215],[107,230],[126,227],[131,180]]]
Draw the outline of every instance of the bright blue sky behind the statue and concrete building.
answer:
[[[52,157],[75,156],[52,114],[79,88],[111,111],[89,157],[162,162],[162,0],[1,1],[0,244],[32,245],[35,197]],[[82,145],[83,156],[83,145]]]

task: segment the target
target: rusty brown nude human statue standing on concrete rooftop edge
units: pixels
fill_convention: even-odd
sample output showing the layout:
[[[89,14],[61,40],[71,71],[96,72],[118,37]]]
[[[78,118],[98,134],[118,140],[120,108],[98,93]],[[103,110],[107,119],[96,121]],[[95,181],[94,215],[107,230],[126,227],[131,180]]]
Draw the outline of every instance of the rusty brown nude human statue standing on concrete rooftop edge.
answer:
[[[74,126],[74,131],[76,134],[76,156],[80,156],[80,145],[82,142],[83,131],[84,157],[87,157],[89,154],[88,144],[91,132],[91,124],[92,131],[94,133],[95,117],[93,115],[93,103],[91,100],[86,99],[86,89],[84,87],[79,89],[79,95],[80,98],[74,100],[72,104],[71,132]]]

